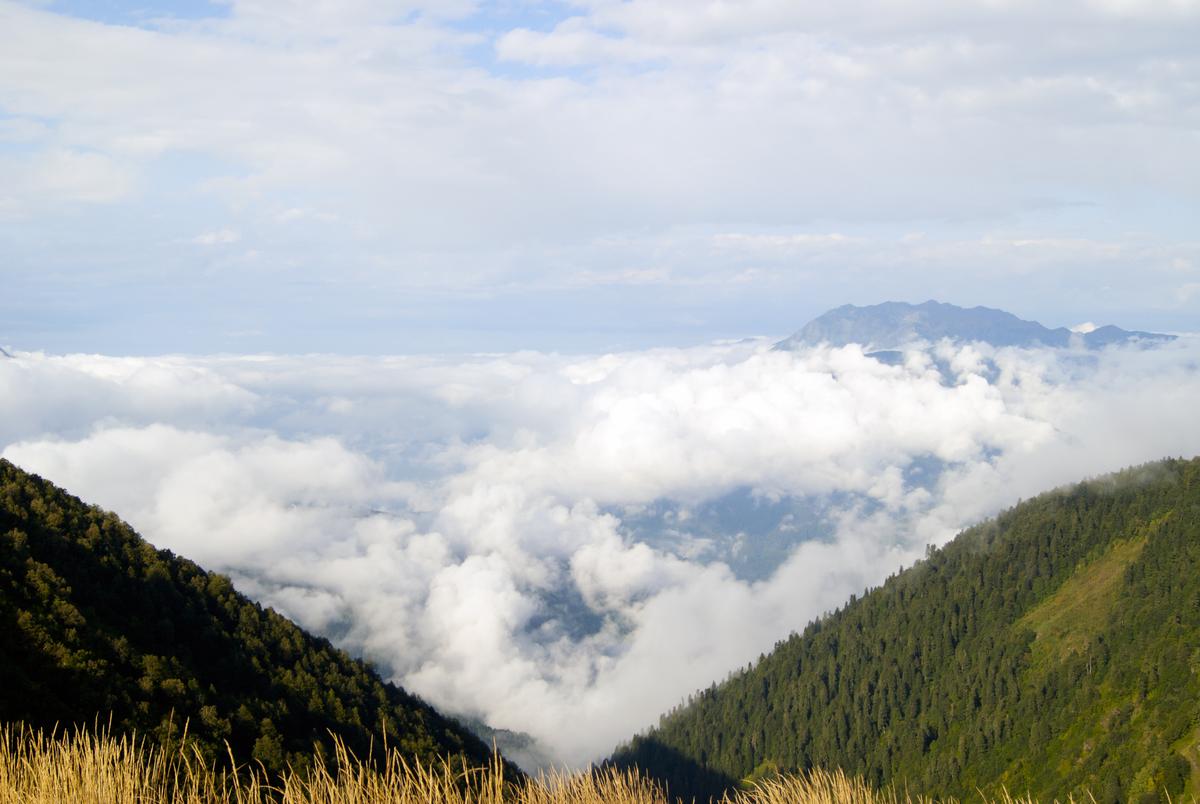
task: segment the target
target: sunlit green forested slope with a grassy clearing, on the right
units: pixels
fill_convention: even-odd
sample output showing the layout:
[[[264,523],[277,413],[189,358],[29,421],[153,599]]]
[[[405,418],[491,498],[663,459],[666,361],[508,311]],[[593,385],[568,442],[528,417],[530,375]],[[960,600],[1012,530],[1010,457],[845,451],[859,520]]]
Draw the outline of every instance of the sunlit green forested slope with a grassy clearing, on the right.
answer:
[[[961,533],[613,761],[686,794],[821,767],[936,796],[1180,800],[1198,743],[1200,460],[1172,460]]]

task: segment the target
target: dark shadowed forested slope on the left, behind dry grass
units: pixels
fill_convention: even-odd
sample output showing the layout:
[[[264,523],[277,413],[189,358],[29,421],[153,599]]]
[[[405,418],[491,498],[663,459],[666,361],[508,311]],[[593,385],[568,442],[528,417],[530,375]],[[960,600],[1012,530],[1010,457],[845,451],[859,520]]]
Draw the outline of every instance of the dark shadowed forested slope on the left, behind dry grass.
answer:
[[[485,745],[361,661],[113,514],[0,460],[0,722],[188,736],[280,770],[331,733],[484,762]]]

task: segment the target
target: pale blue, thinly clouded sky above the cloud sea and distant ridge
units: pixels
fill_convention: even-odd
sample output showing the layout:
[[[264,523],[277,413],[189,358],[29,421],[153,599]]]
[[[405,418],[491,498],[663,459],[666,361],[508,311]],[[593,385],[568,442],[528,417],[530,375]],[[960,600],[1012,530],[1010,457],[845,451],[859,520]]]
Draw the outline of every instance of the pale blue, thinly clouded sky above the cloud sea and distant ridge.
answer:
[[[1198,40],[1192,0],[0,0],[0,344],[1192,331]]]

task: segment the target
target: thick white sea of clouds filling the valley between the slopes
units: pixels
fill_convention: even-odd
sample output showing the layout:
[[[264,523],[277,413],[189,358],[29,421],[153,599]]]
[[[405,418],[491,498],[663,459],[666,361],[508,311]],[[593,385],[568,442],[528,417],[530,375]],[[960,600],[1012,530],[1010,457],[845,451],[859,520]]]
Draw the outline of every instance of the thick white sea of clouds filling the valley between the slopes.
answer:
[[[578,764],[926,545],[1056,485],[1200,452],[1196,400],[1189,337],[942,343],[901,365],[757,340],[598,356],[17,352],[0,356],[0,449],[436,706]],[[768,571],[712,548],[704,512],[731,494],[748,517],[792,505]],[[766,550],[756,533],[726,535]]]

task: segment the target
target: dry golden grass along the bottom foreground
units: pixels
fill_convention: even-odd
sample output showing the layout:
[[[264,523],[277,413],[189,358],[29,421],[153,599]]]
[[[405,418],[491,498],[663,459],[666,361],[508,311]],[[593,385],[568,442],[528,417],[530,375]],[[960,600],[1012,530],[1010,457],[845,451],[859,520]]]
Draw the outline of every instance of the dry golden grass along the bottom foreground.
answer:
[[[47,736],[0,728],[0,804],[668,804],[637,772],[553,773],[520,784],[486,768],[425,767],[392,754],[370,767],[344,749],[331,763],[274,785],[254,768],[215,769],[187,749],[163,751],[132,738],[78,731]],[[839,772],[778,776],[726,804],[929,804],[876,791]],[[1033,804],[1003,796],[984,804]]]

